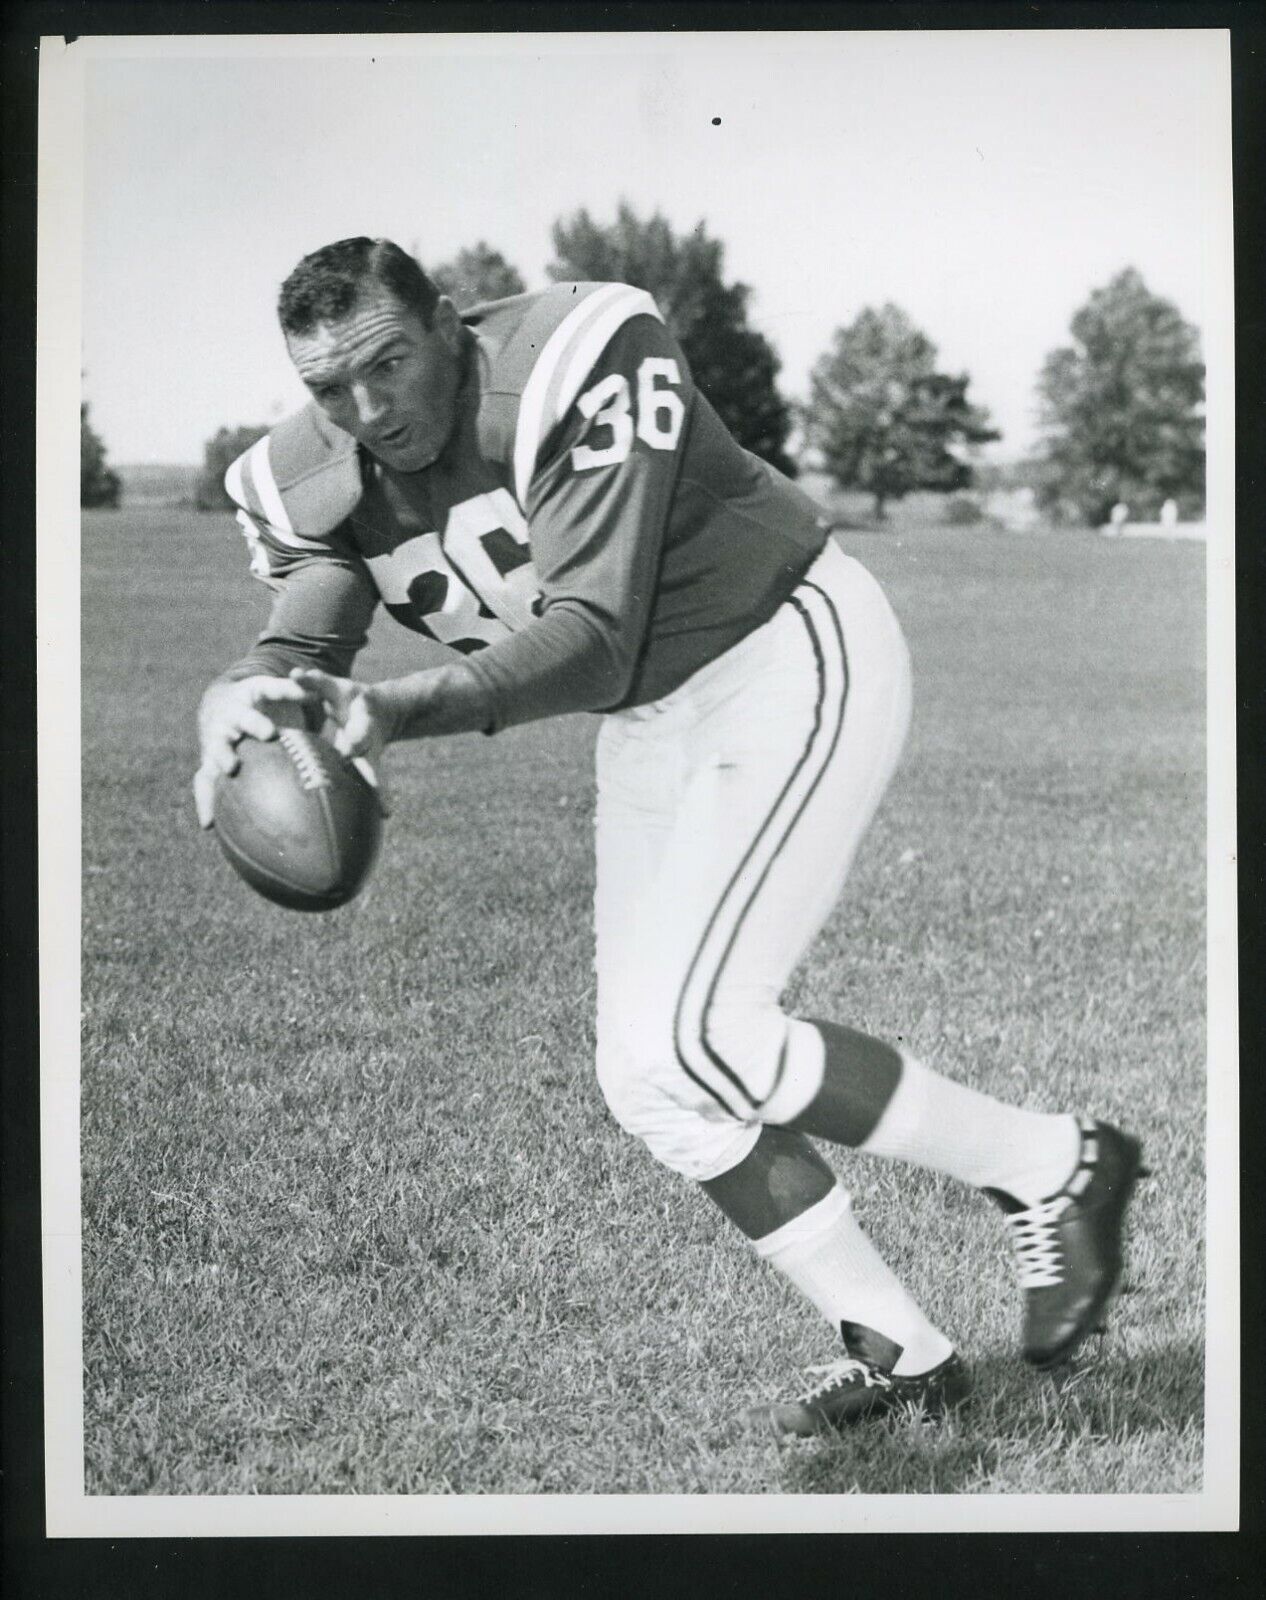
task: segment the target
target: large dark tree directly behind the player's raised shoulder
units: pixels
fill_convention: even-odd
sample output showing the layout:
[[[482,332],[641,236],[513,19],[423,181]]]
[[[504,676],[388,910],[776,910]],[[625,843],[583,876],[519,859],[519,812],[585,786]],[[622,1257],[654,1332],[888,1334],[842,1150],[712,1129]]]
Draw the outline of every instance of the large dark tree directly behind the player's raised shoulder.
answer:
[[[586,210],[560,218],[552,230],[554,282],[632,283],[655,298],[677,336],[699,390],[739,442],[763,461],[795,475],[786,453],[791,408],[778,394],[779,360],[773,346],[747,326],[744,283],[725,283],[725,246],[698,222],[690,234],[672,232],[658,211],[642,221],[621,205],[615,222],[602,226]]]

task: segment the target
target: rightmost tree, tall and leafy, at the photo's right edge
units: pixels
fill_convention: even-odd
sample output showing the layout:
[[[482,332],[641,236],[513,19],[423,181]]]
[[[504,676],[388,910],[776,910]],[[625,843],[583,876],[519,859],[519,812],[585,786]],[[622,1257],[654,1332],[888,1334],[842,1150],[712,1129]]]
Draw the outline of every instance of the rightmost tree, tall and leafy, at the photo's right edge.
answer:
[[[1044,427],[1039,499],[1108,522],[1125,501],[1156,515],[1167,499],[1199,512],[1205,488],[1200,336],[1127,267],[1072,317],[1072,344],[1037,379]]]

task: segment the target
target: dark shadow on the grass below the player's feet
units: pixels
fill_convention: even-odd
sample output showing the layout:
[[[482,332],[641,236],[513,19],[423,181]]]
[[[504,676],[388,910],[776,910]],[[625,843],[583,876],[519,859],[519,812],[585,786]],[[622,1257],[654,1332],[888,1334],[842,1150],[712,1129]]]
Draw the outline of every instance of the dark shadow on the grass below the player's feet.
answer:
[[[891,1421],[792,1445],[783,1458],[783,1490],[991,1493],[999,1466],[1018,1451],[1058,1469],[1066,1451],[1125,1450],[1146,1435],[1178,1438],[1204,1426],[1199,1341],[1140,1355],[1116,1342],[1103,1354],[1092,1346],[1058,1382],[1015,1357],[976,1360],[972,1376],[970,1402],[944,1424]],[[1026,1485],[1032,1488],[1040,1485]]]

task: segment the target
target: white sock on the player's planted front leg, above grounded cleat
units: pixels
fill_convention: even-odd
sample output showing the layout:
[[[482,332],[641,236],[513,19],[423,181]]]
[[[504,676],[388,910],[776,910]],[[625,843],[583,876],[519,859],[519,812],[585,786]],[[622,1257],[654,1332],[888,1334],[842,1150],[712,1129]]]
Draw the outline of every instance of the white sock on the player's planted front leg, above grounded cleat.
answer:
[[[927,1320],[861,1232],[839,1184],[752,1245],[813,1301],[837,1333],[842,1322],[859,1322],[899,1344],[895,1373],[925,1373],[952,1352],[949,1339]]]

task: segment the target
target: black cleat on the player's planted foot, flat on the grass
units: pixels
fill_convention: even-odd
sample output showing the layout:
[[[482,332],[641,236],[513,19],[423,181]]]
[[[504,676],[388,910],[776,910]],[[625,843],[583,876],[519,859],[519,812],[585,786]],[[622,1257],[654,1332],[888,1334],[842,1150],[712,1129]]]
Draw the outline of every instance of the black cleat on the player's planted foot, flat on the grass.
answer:
[[[925,1373],[898,1376],[893,1366],[901,1358],[899,1344],[856,1322],[842,1322],[840,1333],[847,1354],[810,1368],[821,1374],[810,1390],[799,1400],[759,1406],[749,1418],[779,1437],[811,1438],[893,1414],[939,1419],[967,1398],[970,1379],[957,1354]]]

